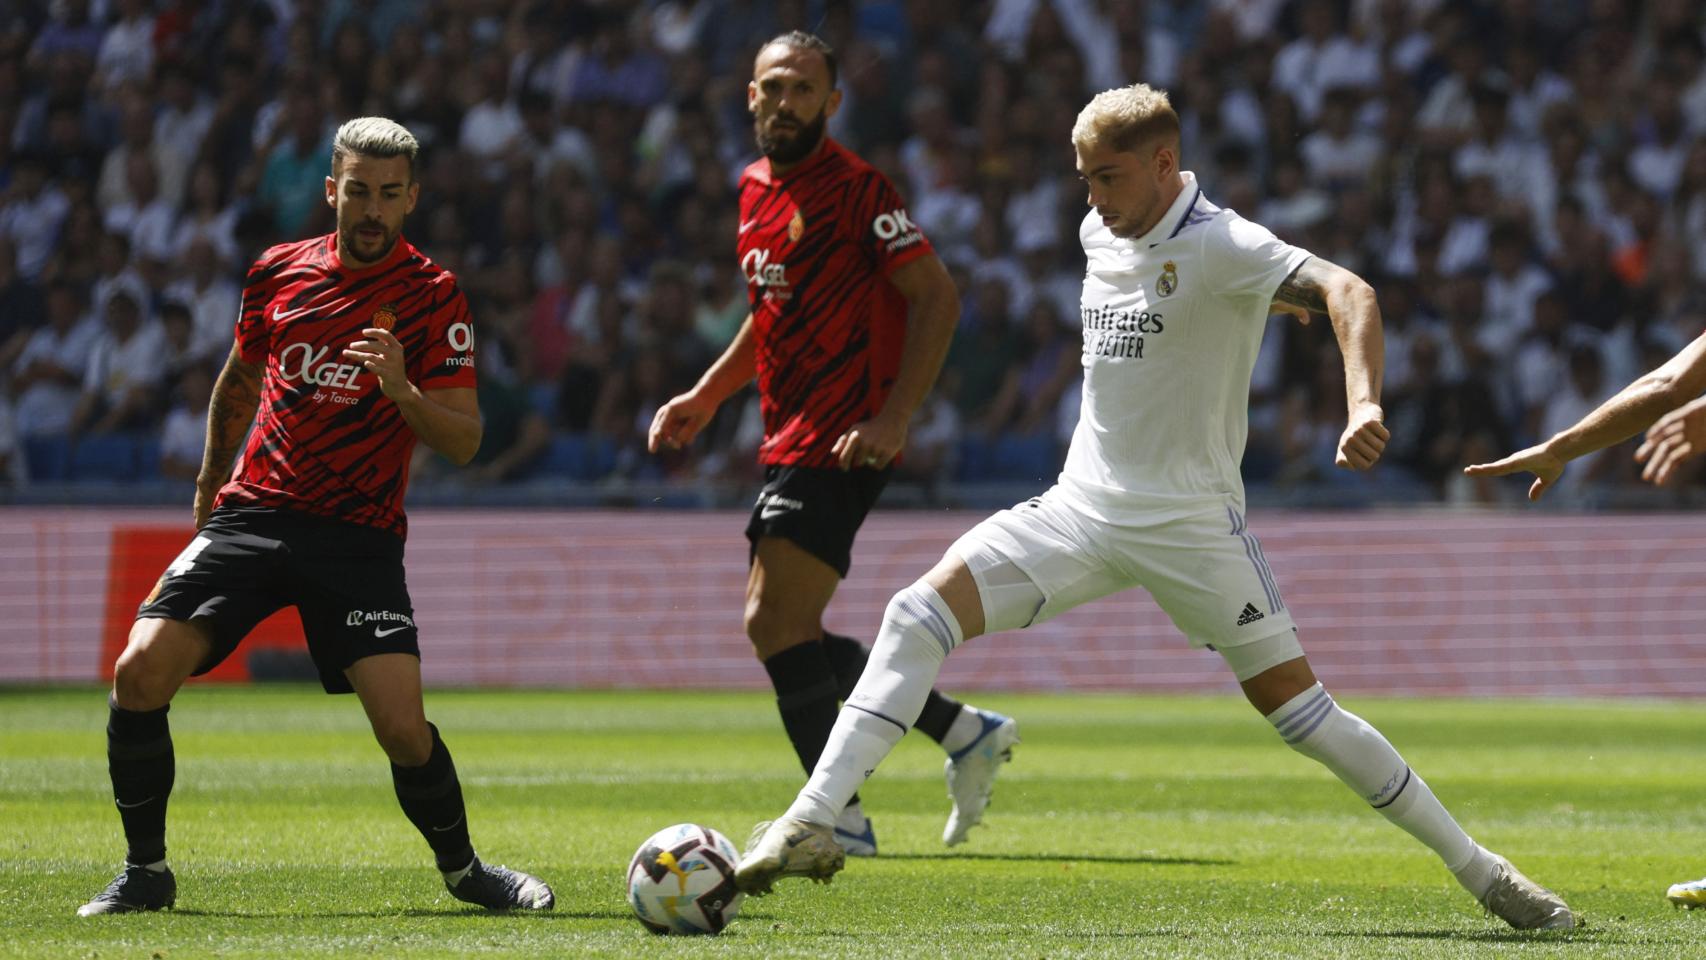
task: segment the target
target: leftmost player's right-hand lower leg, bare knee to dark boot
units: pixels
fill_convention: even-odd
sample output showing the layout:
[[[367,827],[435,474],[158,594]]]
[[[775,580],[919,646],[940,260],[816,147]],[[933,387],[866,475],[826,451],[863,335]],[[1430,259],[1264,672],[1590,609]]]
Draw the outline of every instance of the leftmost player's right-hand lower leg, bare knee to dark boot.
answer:
[[[421,704],[420,658],[375,653],[351,663],[345,677],[362,699],[374,738],[391,759],[397,803],[432,847],[445,888],[459,900],[491,911],[549,911],[554,897],[543,880],[474,856],[456,762]]]

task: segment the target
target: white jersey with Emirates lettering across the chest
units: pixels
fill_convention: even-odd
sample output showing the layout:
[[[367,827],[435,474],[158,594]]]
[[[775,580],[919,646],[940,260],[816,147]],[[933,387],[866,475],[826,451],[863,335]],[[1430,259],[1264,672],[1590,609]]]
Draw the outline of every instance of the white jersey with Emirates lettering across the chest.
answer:
[[[1230,498],[1244,510],[1250,370],[1274,290],[1309,251],[1184,191],[1146,235],[1078,227],[1083,404],[1061,493],[1112,523],[1153,523]]]

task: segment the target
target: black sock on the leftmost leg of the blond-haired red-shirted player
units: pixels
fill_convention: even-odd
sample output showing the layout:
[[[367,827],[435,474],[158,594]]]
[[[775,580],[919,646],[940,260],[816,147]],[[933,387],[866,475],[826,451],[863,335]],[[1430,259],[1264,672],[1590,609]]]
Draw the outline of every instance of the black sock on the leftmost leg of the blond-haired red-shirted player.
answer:
[[[165,801],[176,778],[169,709],[123,709],[107,696],[107,776],[125,824],[125,861],[136,866],[165,859]]]

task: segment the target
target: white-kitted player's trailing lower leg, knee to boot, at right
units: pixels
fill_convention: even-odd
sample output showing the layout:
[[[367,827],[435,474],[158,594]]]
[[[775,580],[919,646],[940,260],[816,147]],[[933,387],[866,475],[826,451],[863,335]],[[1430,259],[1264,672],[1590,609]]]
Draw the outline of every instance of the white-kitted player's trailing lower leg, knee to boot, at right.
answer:
[[[1288,631],[1261,643],[1295,645],[1295,638]],[[1228,662],[1235,667],[1240,655],[1232,653]],[[1392,743],[1334,703],[1307,658],[1286,660],[1240,682],[1250,706],[1293,750],[1326,766],[1380,815],[1426,844],[1488,911],[1517,929],[1575,926],[1570,907],[1556,893],[1469,839]]]

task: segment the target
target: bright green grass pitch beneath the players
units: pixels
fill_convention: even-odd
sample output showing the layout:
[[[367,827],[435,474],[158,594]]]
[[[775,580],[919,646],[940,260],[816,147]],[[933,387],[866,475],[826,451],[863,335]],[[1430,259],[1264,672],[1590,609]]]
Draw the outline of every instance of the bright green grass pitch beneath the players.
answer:
[[[696,820],[737,844],[802,781],[768,697],[435,692],[474,842],[558,909],[452,900],[403,818],[360,706],[307,687],[172,708],[177,909],[80,919],[123,842],[102,692],[0,691],[5,957],[1701,957],[1706,708],[1343,697],[1479,841],[1588,921],[1518,934],[1438,861],[1286,750],[1233,697],[976,697],[1024,743],[949,853],[940,750],[908,737],[865,789],[882,856],[786,882],[715,940],[630,917],[623,868]]]

